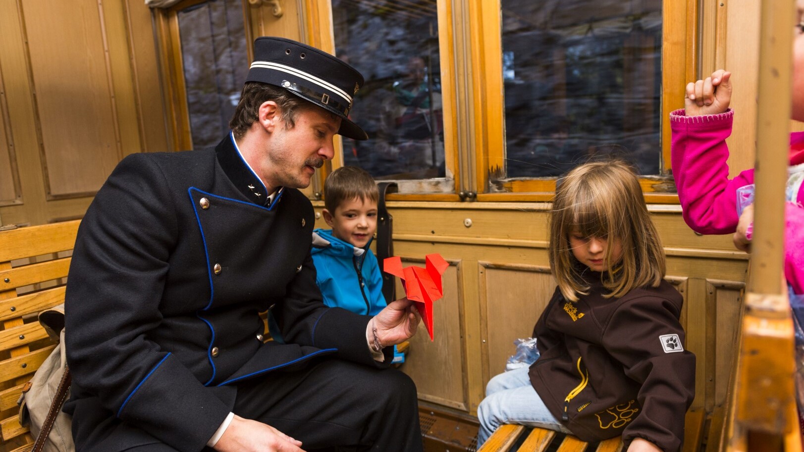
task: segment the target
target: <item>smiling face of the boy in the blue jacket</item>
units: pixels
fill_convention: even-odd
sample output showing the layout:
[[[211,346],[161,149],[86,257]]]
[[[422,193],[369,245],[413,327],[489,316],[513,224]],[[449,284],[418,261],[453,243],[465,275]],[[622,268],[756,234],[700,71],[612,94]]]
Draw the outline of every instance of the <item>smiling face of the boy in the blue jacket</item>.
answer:
[[[334,212],[324,209],[324,221],[332,235],[363,248],[377,230],[377,202],[355,197],[341,202]]]

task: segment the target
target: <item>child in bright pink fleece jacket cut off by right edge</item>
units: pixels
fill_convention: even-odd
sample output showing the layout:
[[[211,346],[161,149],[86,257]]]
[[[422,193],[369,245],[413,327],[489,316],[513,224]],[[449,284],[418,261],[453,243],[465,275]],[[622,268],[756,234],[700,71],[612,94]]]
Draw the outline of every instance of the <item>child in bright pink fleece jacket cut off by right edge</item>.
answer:
[[[798,35],[804,36],[802,34]],[[804,39],[796,39],[793,116],[804,120]],[[731,73],[687,85],[683,110],[671,113],[671,159],[684,221],[700,234],[736,231],[736,190],[753,184],[753,169],[728,178],[726,138],[732,132],[734,112],[728,108]],[[800,85],[800,86],[799,86]],[[798,90],[796,89],[798,88]],[[794,295],[804,294],[804,132],[790,135],[790,172],[787,184],[785,276]],[[749,210],[749,212],[752,210]],[[750,234],[748,236],[750,239]],[[738,238],[735,238],[738,242]]]

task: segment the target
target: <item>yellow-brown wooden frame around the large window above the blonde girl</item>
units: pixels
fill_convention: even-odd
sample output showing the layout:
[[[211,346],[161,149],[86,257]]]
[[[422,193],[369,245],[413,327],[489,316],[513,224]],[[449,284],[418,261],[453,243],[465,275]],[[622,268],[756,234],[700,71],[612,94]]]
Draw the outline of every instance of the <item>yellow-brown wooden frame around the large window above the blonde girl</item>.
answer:
[[[474,178],[478,201],[550,201],[556,189],[556,178],[519,177],[502,179],[505,165],[505,100],[503,88],[503,43],[500,24],[500,0],[472,0],[475,39],[473,67],[474,91],[479,93],[474,108],[478,110],[480,127],[475,127],[475,142],[486,143],[476,150]],[[683,108],[684,85],[695,78],[698,66],[698,2],[666,0],[662,2],[662,96],[661,175],[640,177],[646,202],[678,204],[670,161],[670,112]],[[496,96],[495,96],[496,94]],[[496,176],[496,177],[495,177]],[[495,192],[491,185],[494,182]]]

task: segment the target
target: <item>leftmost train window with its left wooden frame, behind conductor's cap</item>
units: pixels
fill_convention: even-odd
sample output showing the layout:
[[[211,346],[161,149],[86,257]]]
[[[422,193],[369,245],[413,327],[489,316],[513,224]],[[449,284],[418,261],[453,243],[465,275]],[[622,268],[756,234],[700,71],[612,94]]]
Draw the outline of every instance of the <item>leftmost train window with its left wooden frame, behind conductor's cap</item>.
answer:
[[[242,0],[183,0],[155,15],[174,150],[215,147],[248,73]]]

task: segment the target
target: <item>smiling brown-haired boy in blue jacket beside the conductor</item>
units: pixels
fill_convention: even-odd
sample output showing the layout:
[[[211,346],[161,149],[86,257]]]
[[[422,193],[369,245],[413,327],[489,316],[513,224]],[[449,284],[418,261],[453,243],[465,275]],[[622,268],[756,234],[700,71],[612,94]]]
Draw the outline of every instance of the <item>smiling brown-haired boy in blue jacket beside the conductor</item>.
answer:
[[[315,282],[327,306],[374,316],[386,305],[383,277],[369,249],[377,230],[377,185],[364,169],[344,166],[326,178],[324,193],[324,221],[332,229],[313,231]],[[404,362],[396,347],[392,362]]]

